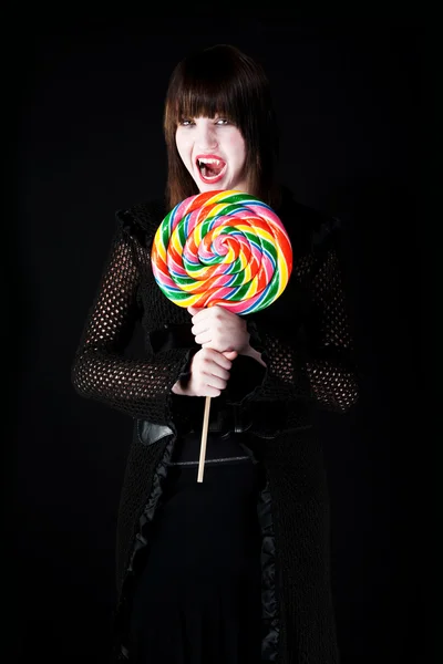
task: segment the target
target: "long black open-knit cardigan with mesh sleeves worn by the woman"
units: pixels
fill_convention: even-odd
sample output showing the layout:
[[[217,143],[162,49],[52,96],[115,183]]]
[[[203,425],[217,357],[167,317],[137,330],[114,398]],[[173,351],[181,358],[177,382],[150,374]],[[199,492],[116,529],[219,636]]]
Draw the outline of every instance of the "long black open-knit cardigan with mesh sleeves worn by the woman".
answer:
[[[141,445],[136,435],[133,438],[119,518],[121,593],[162,460],[187,418],[202,408],[202,398],[172,393],[189,370],[196,344],[189,313],[161,292],[151,268],[153,238],[166,211],[163,201],[119,210],[72,367],[76,391],[130,415],[135,432],[141,421],[174,432],[150,446]],[[262,557],[268,542],[268,556],[276,564],[269,611],[275,647],[268,649],[264,661],[334,664],[329,500],[321,447],[310,427],[317,407],[346,413],[358,397],[336,245],[339,224],[297,204],[288,193],[277,212],[291,239],[292,274],[271,307],[247,317],[250,344],[261,353],[266,369],[251,357],[237,357],[228,387],[212,400],[212,411],[226,404],[249,408],[250,448],[267,476],[270,539],[264,536]],[[128,359],[124,351],[137,322],[145,353]],[[176,332],[176,343],[156,351],[156,339],[165,329]]]

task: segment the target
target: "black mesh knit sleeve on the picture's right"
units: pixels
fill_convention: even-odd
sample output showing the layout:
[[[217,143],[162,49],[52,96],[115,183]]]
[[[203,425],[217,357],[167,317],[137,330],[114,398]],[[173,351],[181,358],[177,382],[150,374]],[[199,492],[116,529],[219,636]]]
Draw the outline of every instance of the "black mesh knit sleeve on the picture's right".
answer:
[[[248,324],[250,343],[267,369],[251,401],[315,400],[321,407],[347,412],[358,398],[352,338],[334,234],[313,247],[295,266],[295,279],[307,293],[302,324]],[[297,308],[297,303],[293,303]],[[290,331],[288,333],[288,330]]]

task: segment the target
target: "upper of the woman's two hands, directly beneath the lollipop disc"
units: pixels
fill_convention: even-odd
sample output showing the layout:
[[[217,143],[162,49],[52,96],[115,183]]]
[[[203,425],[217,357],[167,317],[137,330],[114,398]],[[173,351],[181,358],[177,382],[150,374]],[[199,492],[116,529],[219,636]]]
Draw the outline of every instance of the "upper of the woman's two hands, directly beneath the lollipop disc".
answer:
[[[249,347],[250,335],[241,317],[223,307],[188,307],[187,310],[193,317],[192,333],[202,347],[219,353],[236,351],[238,354],[244,354]]]

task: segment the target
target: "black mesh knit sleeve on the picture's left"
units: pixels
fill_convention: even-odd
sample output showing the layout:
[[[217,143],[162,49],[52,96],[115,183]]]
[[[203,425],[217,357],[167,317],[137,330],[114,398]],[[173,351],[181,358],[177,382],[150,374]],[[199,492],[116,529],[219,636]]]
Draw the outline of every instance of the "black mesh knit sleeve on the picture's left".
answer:
[[[171,423],[172,386],[188,363],[186,349],[124,356],[141,311],[141,248],[119,227],[72,365],[76,392],[133,417]]]

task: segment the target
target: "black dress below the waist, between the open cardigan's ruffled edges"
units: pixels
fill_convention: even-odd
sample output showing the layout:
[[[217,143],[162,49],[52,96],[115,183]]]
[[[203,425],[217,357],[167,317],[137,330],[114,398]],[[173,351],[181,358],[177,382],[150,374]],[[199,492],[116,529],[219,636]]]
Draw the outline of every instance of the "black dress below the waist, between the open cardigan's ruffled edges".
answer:
[[[261,661],[261,479],[238,440],[209,434],[203,483],[200,436],[177,442],[134,594],[131,662]]]

